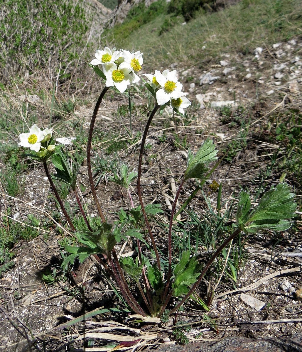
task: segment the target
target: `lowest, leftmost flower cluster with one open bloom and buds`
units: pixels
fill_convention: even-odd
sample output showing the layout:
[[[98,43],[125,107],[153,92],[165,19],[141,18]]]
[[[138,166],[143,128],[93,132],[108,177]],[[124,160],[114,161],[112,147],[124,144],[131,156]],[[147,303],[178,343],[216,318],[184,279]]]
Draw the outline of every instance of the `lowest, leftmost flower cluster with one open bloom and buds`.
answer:
[[[19,135],[21,147],[29,148],[37,153],[37,157],[49,157],[56,149],[52,139],[52,128],[41,130],[36,124],[30,128],[29,133]]]

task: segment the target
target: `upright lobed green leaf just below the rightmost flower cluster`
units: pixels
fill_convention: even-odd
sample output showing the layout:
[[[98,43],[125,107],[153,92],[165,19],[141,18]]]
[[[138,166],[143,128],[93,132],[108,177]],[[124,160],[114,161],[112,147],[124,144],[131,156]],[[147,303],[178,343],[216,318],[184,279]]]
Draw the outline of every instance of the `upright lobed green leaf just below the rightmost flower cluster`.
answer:
[[[202,180],[204,174],[209,170],[208,164],[217,159],[216,154],[218,150],[215,149],[213,140],[207,138],[203,142],[202,146],[196,152],[195,156],[188,150],[187,158],[187,169],[184,173],[184,179],[188,180],[189,178],[199,178]]]

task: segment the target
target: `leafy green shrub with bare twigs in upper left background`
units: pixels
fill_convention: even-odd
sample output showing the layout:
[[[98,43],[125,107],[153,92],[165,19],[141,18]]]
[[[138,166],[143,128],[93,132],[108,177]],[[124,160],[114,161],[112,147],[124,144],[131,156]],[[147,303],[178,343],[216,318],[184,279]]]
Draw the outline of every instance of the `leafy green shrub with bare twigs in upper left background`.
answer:
[[[60,82],[67,80],[86,46],[88,23],[83,0],[2,1],[1,76],[50,68]]]

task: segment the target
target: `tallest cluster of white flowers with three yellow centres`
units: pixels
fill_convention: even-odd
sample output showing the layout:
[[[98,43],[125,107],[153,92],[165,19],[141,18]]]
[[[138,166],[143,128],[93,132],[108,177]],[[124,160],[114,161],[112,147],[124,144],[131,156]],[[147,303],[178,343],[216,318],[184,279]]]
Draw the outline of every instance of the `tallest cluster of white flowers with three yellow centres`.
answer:
[[[89,64],[99,76],[106,79],[106,87],[114,86],[124,93],[129,84],[139,81],[137,73],[143,64],[143,54],[140,51],[110,50],[105,46],[104,50],[96,50],[95,59]],[[97,67],[99,65],[100,68]]]

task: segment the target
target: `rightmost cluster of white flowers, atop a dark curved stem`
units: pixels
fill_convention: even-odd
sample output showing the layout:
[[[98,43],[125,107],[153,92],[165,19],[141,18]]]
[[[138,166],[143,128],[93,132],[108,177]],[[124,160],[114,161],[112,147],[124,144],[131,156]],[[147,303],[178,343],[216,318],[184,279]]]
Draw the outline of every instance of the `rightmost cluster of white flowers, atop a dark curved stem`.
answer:
[[[143,74],[149,79],[145,82],[146,87],[153,94],[158,105],[169,105],[174,111],[184,114],[184,108],[191,105],[182,90],[182,84],[178,82],[176,70],[164,70],[163,73],[156,70],[154,75]]]

